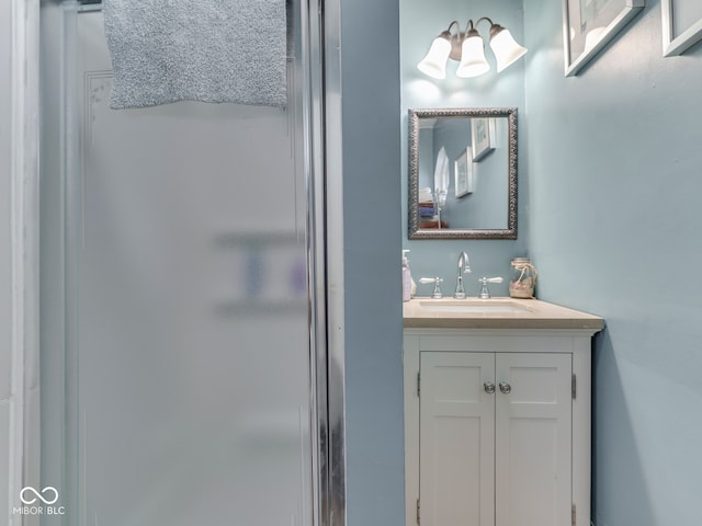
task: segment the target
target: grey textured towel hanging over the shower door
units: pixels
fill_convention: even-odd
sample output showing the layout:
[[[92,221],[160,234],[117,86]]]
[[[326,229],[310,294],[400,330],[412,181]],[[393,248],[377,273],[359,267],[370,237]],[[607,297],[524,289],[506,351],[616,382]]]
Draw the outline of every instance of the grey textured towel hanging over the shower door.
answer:
[[[286,104],[285,0],[104,0],[113,108]]]

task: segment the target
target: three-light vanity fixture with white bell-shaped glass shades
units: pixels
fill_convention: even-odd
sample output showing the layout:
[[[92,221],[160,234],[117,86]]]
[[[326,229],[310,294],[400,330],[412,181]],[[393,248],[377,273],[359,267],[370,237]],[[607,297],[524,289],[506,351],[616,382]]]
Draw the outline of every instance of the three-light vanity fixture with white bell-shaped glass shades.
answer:
[[[465,33],[461,33],[461,25],[454,20],[449,24],[449,28],[431,43],[429,53],[417,65],[419,70],[434,79],[445,79],[446,61],[451,58],[460,61],[456,77],[471,78],[487,72],[490,65],[485,58],[483,37],[475,28],[484,20],[490,23],[490,47],[497,60],[498,73],[526,53],[526,48],[514,41],[509,30],[492,23],[487,16],[478,19],[475,24],[473,20],[468,20]],[[455,34],[451,32],[454,25]]]

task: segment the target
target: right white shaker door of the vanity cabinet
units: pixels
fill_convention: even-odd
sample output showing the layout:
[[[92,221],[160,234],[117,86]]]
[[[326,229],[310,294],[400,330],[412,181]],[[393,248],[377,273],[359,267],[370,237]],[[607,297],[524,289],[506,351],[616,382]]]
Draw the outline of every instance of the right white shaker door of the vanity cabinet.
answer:
[[[570,354],[496,356],[497,526],[570,524],[571,371]]]

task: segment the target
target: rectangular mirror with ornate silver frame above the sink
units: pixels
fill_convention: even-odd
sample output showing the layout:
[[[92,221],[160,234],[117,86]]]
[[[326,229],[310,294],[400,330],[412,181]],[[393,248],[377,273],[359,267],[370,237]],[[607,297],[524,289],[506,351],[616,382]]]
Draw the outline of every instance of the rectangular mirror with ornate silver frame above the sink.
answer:
[[[517,239],[517,108],[409,110],[409,239]]]

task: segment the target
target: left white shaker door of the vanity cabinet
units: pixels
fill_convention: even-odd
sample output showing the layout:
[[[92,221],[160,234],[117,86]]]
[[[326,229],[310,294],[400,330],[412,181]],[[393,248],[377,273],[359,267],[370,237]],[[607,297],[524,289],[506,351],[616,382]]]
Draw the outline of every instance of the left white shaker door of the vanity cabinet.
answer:
[[[495,524],[495,354],[420,355],[422,526]]]

